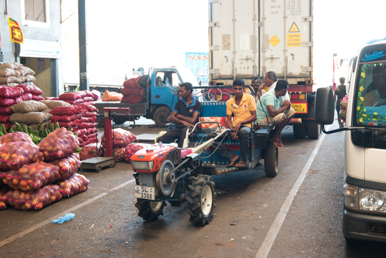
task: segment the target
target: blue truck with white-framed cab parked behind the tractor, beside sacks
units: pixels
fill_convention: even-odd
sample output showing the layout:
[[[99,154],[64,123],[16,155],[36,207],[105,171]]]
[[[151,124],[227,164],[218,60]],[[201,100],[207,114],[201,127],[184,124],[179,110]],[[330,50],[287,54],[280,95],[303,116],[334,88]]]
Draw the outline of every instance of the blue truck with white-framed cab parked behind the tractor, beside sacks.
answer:
[[[95,101],[98,114],[103,115],[103,108],[130,108],[129,117],[116,117],[114,122],[122,124],[126,121],[138,120],[141,116],[154,120],[157,127],[165,127],[166,118],[170,115],[178,101],[178,85],[190,82],[199,86],[196,77],[187,68],[149,68],[147,87],[143,91],[142,100],[138,103],[121,103],[120,101]],[[120,111],[117,111],[119,113]],[[121,111],[124,113],[124,111]],[[104,126],[102,117],[98,118],[98,126]]]

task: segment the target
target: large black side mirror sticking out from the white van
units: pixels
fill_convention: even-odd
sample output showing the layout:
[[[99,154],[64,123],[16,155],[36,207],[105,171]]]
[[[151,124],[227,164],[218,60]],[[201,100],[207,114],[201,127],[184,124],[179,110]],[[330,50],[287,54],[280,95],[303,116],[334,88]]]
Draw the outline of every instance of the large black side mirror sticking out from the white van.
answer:
[[[333,91],[329,87],[319,88],[315,98],[315,122],[332,124],[335,110]]]

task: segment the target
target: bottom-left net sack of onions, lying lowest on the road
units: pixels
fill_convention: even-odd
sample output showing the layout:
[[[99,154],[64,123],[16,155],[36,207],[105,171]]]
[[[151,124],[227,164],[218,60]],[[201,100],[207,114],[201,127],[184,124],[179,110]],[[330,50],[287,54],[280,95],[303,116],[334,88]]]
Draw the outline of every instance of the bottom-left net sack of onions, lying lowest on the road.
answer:
[[[60,193],[58,185],[48,184],[35,191],[8,191],[6,193],[6,200],[15,209],[42,209],[53,202],[62,200],[62,193]]]

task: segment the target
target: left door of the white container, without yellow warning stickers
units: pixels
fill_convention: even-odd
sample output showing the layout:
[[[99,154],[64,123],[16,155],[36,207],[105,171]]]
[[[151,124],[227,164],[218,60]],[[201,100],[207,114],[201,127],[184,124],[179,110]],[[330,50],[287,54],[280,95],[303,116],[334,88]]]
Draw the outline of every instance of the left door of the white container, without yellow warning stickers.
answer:
[[[258,75],[258,0],[209,2],[211,78]]]

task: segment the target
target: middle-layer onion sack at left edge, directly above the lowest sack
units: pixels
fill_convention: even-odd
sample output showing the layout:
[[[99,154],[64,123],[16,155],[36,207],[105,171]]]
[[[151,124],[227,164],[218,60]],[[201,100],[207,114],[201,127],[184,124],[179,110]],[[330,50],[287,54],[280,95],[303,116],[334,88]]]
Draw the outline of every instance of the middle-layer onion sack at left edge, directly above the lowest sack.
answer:
[[[60,179],[60,174],[58,166],[40,161],[0,172],[0,178],[13,190],[31,191]]]

